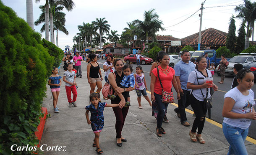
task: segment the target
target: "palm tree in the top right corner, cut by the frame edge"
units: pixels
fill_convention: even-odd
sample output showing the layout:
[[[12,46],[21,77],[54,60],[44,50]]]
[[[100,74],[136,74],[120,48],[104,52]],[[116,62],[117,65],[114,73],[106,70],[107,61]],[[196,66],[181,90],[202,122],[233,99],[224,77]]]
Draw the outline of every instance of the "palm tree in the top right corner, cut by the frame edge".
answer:
[[[251,36],[250,28],[254,29],[254,20],[256,19],[256,2],[251,3],[250,0],[244,0],[244,5],[235,7],[235,11],[239,12],[237,18],[245,19],[247,22],[245,49],[249,47],[249,38]]]

